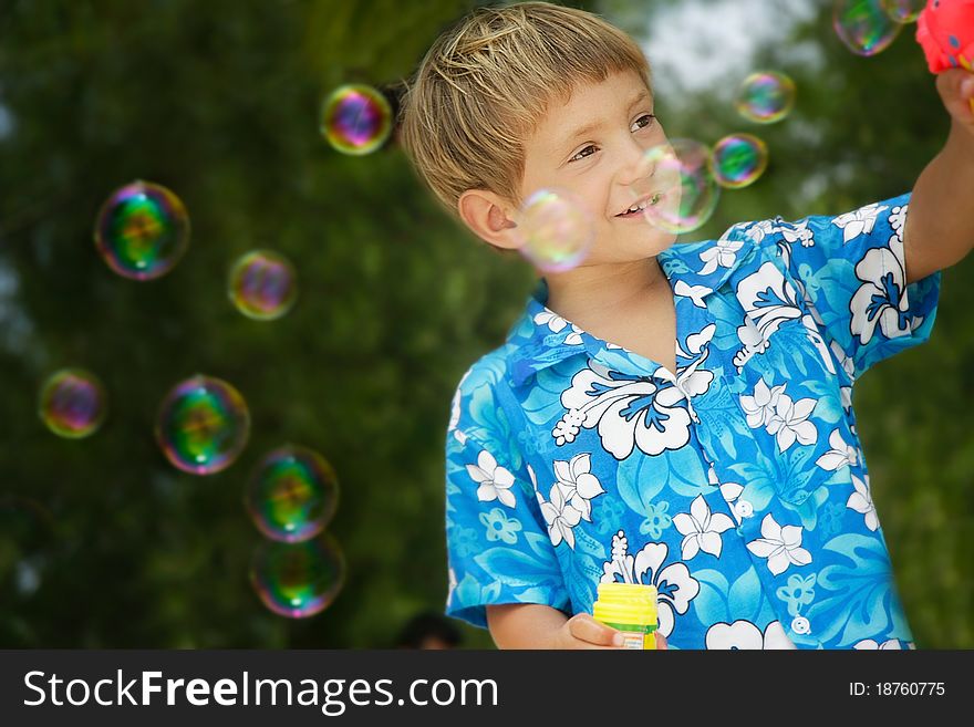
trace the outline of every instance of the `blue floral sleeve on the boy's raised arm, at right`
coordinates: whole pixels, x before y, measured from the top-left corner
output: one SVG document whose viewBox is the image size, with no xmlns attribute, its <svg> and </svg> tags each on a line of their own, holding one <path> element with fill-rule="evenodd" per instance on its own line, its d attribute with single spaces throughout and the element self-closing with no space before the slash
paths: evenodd
<svg viewBox="0 0 974 727">
<path fill-rule="evenodd" d="M 926 341 L 940 271 L 906 285 L 903 230 L 910 195 L 837 217 L 736 226 L 774 241 L 826 342 L 854 381 L 872 364 Z M 732 228 L 734 229 L 734 228 Z"/>
</svg>

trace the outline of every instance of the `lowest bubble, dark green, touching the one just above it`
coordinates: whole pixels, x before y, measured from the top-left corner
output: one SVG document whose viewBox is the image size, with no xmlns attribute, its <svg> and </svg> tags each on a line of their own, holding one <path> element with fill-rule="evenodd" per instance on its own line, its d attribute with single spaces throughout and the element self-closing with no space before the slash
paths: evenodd
<svg viewBox="0 0 974 727">
<path fill-rule="evenodd" d="M 345 560 L 325 533 L 303 542 L 266 540 L 253 553 L 250 582 L 263 604 L 281 616 L 304 619 L 335 600 L 345 580 Z"/>
</svg>

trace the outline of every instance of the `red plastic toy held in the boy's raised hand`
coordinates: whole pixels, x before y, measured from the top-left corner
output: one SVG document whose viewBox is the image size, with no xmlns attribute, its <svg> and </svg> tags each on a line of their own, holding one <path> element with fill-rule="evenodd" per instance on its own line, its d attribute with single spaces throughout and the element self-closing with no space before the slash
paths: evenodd
<svg viewBox="0 0 974 727">
<path fill-rule="evenodd" d="M 974 71 L 974 0 L 930 0 L 916 19 L 916 42 L 931 73 Z"/>
</svg>

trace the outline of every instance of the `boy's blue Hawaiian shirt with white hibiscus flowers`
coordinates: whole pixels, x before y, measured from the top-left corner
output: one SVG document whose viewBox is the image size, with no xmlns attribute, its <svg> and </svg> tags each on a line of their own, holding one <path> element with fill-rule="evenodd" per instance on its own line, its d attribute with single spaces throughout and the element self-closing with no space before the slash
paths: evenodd
<svg viewBox="0 0 974 727">
<path fill-rule="evenodd" d="M 859 376 L 933 328 L 908 202 L 660 253 L 675 372 L 555 314 L 542 280 L 454 397 L 447 613 L 591 613 L 625 581 L 656 586 L 675 648 L 912 647 L 852 411 Z"/>
</svg>

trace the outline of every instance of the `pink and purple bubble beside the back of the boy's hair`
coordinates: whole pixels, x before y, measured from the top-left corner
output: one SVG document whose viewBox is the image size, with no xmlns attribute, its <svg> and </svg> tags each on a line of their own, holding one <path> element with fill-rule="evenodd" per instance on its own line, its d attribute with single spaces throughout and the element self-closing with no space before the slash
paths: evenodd
<svg viewBox="0 0 974 727">
<path fill-rule="evenodd" d="M 392 106 L 372 86 L 340 86 L 322 105 L 321 133 L 342 154 L 374 152 L 385 144 L 392 126 Z"/>
</svg>

